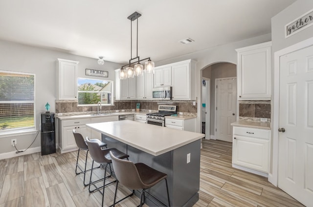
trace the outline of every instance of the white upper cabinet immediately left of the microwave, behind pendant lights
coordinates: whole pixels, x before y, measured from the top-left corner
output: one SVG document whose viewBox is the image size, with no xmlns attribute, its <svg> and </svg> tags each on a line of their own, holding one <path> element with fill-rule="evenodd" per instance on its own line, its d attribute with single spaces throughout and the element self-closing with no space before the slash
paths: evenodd
<svg viewBox="0 0 313 207">
<path fill-rule="evenodd" d="M 138 100 L 152 99 L 153 73 L 144 73 L 136 77 L 136 97 Z"/>
</svg>

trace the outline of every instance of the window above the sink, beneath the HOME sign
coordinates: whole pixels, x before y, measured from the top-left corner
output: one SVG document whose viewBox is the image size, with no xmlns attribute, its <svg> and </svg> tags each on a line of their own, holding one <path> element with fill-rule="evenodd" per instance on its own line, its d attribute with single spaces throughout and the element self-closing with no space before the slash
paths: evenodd
<svg viewBox="0 0 313 207">
<path fill-rule="evenodd" d="M 112 105 L 113 81 L 78 78 L 78 105 Z"/>
</svg>

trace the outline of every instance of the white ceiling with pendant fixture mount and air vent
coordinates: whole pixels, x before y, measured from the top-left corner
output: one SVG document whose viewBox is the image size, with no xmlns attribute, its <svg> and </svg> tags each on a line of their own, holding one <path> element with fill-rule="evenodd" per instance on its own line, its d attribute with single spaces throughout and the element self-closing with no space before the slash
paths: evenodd
<svg viewBox="0 0 313 207">
<path fill-rule="evenodd" d="M 270 33 L 295 0 L 0 0 L 0 39 L 127 63 L 131 21 L 138 55 L 155 62 Z M 133 57 L 135 57 L 133 22 Z M 195 42 L 181 45 L 179 40 Z"/>
</svg>

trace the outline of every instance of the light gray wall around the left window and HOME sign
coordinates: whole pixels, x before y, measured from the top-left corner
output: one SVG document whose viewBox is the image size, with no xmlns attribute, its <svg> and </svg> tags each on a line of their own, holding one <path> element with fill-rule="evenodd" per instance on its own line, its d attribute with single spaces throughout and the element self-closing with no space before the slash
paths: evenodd
<svg viewBox="0 0 313 207">
<path fill-rule="evenodd" d="M 57 58 L 79 61 L 78 77 L 101 79 L 95 76 L 85 75 L 86 68 L 101 69 L 109 71 L 109 77 L 103 79 L 114 80 L 114 69 L 118 69 L 121 66 L 120 64 L 112 62 L 105 62 L 103 66 L 99 66 L 97 59 L 0 41 L 0 70 L 35 73 L 37 130 L 39 130 L 39 114 L 45 112 L 46 102 L 49 102 L 51 106 L 50 111 L 55 112 Z M 11 138 L 17 138 L 17 147 L 19 149 L 25 149 L 31 144 L 32 140 L 35 138 L 35 134 L 0 138 L 0 154 L 14 151 L 14 148 L 11 146 Z M 31 148 L 39 146 L 40 133 Z M 22 155 L 22 153 L 19 155 Z"/>
</svg>

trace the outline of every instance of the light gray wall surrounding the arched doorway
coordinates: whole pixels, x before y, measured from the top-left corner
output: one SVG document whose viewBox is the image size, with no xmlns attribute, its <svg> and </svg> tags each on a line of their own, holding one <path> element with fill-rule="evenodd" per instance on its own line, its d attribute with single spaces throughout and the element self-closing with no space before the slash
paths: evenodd
<svg viewBox="0 0 313 207">
<path fill-rule="evenodd" d="M 219 62 L 228 62 L 237 65 L 237 52 L 235 49 L 245 46 L 251 46 L 259 43 L 268 42 L 271 40 L 271 34 L 261 35 L 258 37 L 250 38 L 247 40 L 230 43 L 223 46 L 217 46 L 214 48 L 206 49 L 203 51 L 179 56 L 176 58 L 164 60 L 161 62 L 157 62 L 156 66 L 161 66 L 164 64 L 175 63 L 182 60 L 194 59 L 197 61 L 197 75 L 196 75 L 196 83 L 197 83 L 197 99 L 201 97 L 201 70 L 210 66 L 214 63 Z M 198 117 L 197 117 L 197 132 L 201 132 L 201 101 L 198 101 Z"/>
</svg>

